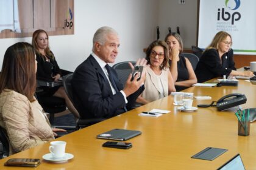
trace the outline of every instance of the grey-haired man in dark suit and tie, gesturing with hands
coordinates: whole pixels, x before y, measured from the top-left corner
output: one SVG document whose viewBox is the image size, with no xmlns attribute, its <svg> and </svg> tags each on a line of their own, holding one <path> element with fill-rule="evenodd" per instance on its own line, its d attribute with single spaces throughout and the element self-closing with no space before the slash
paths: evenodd
<svg viewBox="0 0 256 170">
<path fill-rule="evenodd" d="M 144 90 L 144 73 L 137 81 L 129 76 L 125 86 L 118 81 L 115 70 L 108 66 L 118 55 L 119 37 L 110 27 L 99 28 L 93 37 L 93 52 L 74 72 L 74 106 L 80 118 L 110 118 L 126 112 Z M 130 64 L 132 65 L 132 64 Z M 146 66 L 146 60 L 137 61 Z M 131 66 L 132 67 L 132 66 Z"/>
</svg>

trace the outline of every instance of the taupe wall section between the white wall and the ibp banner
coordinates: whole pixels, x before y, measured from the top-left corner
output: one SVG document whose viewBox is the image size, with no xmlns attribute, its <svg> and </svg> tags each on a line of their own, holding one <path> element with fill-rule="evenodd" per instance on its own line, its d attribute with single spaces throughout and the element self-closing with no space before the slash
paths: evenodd
<svg viewBox="0 0 256 170">
<path fill-rule="evenodd" d="M 186 0 L 184 5 L 180 5 L 178 0 L 159 0 L 158 25 L 160 39 L 165 39 L 168 27 L 176 32 L 179 26 L 184 47 L 196 45 L 197 0 Z"/>
</svg>

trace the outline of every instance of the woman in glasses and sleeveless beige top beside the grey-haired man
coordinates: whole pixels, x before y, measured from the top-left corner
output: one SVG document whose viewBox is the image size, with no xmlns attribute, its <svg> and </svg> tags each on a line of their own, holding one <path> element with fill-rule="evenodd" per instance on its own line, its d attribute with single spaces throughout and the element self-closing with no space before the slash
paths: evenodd
<svg viewBox="0 0 256 170">
<path fill-rule="evenodd" d="M 146 60 L 149 66 L 145 67 L 145 90 L 138 97 L 138 103 L 146 104 L 167 97 L 171 92 L 176 92 L 168 69 L 168 57 L 168 46 L 164 41 L 154 41 L 149 45 L 146 51 Z"/>
</svg>

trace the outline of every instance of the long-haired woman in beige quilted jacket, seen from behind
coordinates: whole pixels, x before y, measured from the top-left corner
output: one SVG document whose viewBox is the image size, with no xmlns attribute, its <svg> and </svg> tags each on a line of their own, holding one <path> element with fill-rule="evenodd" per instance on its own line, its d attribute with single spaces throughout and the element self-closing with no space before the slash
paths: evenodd
<svg viewBox="0 0 256 170">
<path fill-rule="evenodd" d="M 54 139 L 49 120 L 34 97 L 37 72 L 34 48 L 27 42 L 10 46 L 0 75 L 0 126 L 9 138 L 10 154 Z M 54 131 L 54 132 L 53 132 Z"/>
</svg>

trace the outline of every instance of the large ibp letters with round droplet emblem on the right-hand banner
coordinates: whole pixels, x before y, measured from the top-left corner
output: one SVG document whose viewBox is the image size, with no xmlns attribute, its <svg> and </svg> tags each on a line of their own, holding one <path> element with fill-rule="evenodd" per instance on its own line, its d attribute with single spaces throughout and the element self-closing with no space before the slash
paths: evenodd
<svg viewBox="0 0 256 170">
<path fill-rule="evenodd" d="M 226 0 L 225 5 L 230 10 L 236 10 L 240 7 L 240 0 Z M 233 25 L 235 21 L 240 20 L 241 14 L 239 12 L 225 12 L 225 9 L 218 9 L 218 21 L 223 19 L 224 21 L 229 21 L 231 19 L 231 24 Z"/>
</svg>

